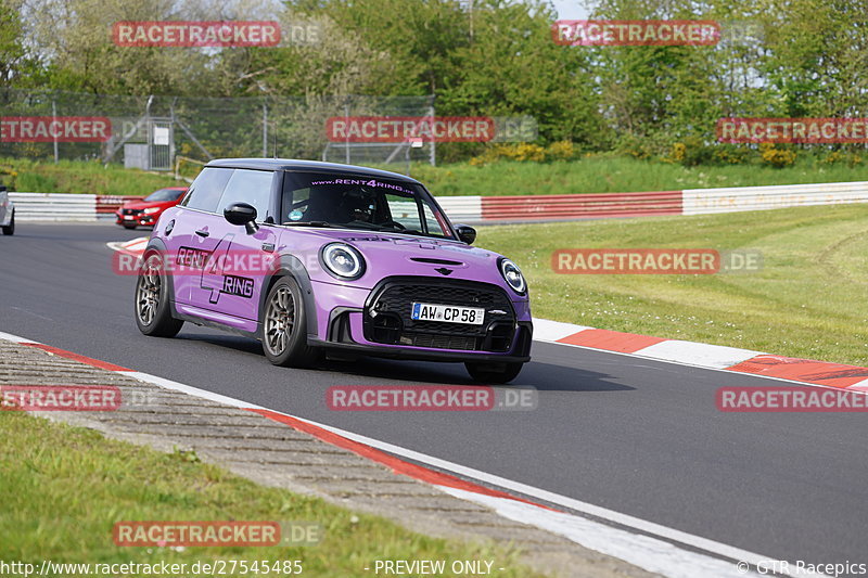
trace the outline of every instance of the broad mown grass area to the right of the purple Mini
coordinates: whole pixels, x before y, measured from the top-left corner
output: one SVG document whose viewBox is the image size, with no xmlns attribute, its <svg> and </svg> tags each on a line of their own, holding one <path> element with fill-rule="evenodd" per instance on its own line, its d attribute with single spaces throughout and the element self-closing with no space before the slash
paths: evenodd
<svg viewBox="0 0 868 578">
<path fill-rule="evenodd" d="M 485 227 L 534 314 L 593 327 L 868 365 L 868 205 Z M 754 273 L 559 274 L 558 248 L 753 248 Z"/>
</svg>

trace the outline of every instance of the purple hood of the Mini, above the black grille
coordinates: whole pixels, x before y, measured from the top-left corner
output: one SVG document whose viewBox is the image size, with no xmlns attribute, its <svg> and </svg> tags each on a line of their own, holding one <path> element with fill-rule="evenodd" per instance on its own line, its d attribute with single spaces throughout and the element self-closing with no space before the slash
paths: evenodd
<svg viewBox="0 0 868 578">
<path fill-rule="evenodd" d="M 336 229 L 296 229 L 304 231 L 307 251 L 317 251 L 332 242 L 353 245 L 363 256 L 365 274 L 347 284 L 373 287 L 386 277 L 414 275 L 460 279 L 493 283 L 506 287 L 497 266 L 499 254 L 473 247 L 459 241 Z M 335 283 L 326 272 L 311 274 L 319 281 Z M 511 295 L 518 298 L 516 295 Z"/>
</svg>

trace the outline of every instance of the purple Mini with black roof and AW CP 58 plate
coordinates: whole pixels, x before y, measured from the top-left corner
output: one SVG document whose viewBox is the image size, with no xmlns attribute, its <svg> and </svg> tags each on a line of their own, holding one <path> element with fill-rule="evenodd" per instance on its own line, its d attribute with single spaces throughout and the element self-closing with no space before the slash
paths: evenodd
<svg viewBox="0 0 868 578">
<path fill-rule="evenodd" d="M 184 321 L 259 339 L 275 364 L 324 354 L 463 362 L 480 382 L 529 360 L 527 284 L 470 246 L 418 181 L 284 159 L 209 163 L 154 227 L 136 322 L 171 337 Z"/>
</svg>

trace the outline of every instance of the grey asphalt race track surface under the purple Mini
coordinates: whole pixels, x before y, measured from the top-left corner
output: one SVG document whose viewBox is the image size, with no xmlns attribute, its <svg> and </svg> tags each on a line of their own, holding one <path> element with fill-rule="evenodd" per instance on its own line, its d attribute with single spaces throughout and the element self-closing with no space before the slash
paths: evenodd
<svg viewBox="0 0 868 578">
<path fill-rule="evenodd" d="M 331 385 L 471 382 L 451 363 L 276 368 L 258 343 L 189 323 L 174 339 L 145 337 L 135 278 L 112 272 L 105 246 L 145 234 L 20 223 L 0 236 L 0 331 L 771 558 L 868 563 L 865 414 L 722 413 L 718 387 L 780 382 L 542 343 L 514 382 L 538 388 L 533 411 L 330 411 Z"/>
</svg>

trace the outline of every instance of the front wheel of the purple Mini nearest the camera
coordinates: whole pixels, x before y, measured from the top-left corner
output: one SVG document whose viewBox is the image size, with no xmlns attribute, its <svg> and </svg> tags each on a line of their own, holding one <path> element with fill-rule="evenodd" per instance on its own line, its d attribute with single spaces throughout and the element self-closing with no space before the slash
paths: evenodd
<svg viewBox="0 0 868 578">
<path fill-rule="evenodd" d="M 281 277 L 268 292 L 259 314 L 268 361 L 283 368 L 309 368 L 319 361 L 316 348 L 307 345 L 307 310 L 295 279 Z"/>
</svg>

